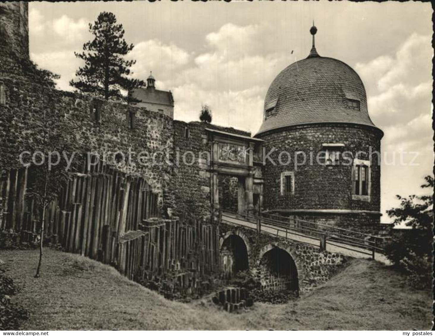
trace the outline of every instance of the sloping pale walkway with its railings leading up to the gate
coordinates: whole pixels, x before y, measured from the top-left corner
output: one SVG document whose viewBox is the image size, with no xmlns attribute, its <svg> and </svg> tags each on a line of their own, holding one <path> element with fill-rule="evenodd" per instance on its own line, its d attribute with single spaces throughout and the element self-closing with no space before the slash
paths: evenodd
<svg viewBox="0 0 435 336">
<path fill-rule="evenodd" d="M 229 225 L 257 230 L 259 233 L 318 246 L 331 253 L 340 253 L 354 258 L 371 257 L 390 264 L 384 255 L 384 250 L 380 247 L 382 237 L 276 215 L 271 218 L 271 216 L 239 215 L 230 211 L 221 211 L 219 220 Z"/>
</svg>

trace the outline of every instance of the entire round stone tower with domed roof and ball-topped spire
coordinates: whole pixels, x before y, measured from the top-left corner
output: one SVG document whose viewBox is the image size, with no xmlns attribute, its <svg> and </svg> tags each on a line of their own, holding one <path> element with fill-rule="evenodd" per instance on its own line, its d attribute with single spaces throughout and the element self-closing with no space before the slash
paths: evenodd
<svg viewBox="0 0 435 336">
<path fill-rule="evenodd" d="M 361 229 L 380 222 L 383 132 L 347 64 L 321 57 L 289 65 L 271 83 L 256 137 L 265 140 L 264 211 Z"/>
</svg>

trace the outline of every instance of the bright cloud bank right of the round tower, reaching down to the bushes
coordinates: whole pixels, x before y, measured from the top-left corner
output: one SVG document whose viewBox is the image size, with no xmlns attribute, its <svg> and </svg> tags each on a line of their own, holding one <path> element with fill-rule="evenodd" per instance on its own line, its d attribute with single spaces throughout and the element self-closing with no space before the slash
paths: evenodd
<svg viewBox="0 0 435 336">
<path fill-rule="evenodd" d="M 385 133 L 382 212 L 398 205 L 395 194 L 420 192 L 423 176 L 432 170 L 432 54 L 431 38 L 413 33 L 394 55 L 381 55 L 355 67 L 365 83 L 373 121 Z M 400 162 L 401 155 L 405 164 Z"/>
</svg>

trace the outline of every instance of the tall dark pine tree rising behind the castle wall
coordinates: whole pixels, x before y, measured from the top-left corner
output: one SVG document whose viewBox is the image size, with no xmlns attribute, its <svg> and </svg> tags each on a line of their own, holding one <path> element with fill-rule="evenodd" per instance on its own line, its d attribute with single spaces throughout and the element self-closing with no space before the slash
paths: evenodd
<svg viewBox="0 0 435 336">
<path fill-rule="evenodd" d="M 76 89 L 92 93 L 104 99 L 126 99 L 121 90 L 129 91 L 144 85 L 142 80 L 131 79 L 130 68 L 135 60 L 124 60 L 133 48 L 124 40 L 124 28 L 117 24 L 113 13 L 102 12 L 94 24 L 89 23 L 89 31 L 95 38 L 83 45 L 82 53 L 74 53 L 84 60 L 84 67 L 76 71 L 78 79 L 70 85 Z"/>
</svg>

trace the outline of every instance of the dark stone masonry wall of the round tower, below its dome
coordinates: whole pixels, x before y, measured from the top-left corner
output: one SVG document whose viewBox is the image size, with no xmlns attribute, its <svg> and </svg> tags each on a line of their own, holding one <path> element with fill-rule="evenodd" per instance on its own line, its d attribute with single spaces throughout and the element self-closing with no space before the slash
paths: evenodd
<svg viewBox="0 0 435 336">
<path fill-rule="evenodd" d="M 352 166 L 318 164 L 316 155 L 324 150 L 322 143 L 343 143 L 341 152 L 355 154 L 365 151 L 358 158 L 368 160 L 369 146 L 372 151 L 380 151 L 381 133 L 373 128 L 357 125 L 305 125 L 293 126 L 284 130 L 264 133 L 261 139 L 266 140 L 265 153 L 272 148 L 276 150 L 269 157 L 277 163 L 266 160 L 264 168 L 264 209 L 303 209 L 303 210 L 380 210 L 380 178 L 381 170 L 376 156 L 371 166 L 370 201 L 352 200 Z M 281 151 L 291 154 L 291 162 L 282 166 L 278 162 Z M 302 151 L 307 155 L 305 165 L 294 167 L 294 153 Z M 310 163 L 310 152 L 313 153 L 313 164 Z M 284 154 L 281 160 L 286 162 Z M 299 156 L 301 162 L 302 156 Z M 294 193 L 281 195 L 281 173 L 294 171 Z M 321 216 L 317 216 L 321 218 Z M 379 221 L 379 216 L 368 216 L 368 222 Z"/>
</svg>

